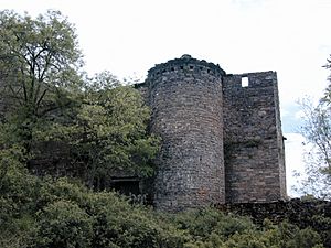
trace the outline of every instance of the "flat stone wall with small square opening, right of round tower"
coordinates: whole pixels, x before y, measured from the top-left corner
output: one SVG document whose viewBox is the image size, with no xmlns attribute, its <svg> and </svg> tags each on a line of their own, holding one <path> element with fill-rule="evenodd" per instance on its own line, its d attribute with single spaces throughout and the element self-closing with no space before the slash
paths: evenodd
<svg viewBox="0 0 331 248">
<path fill-rule="evenodd" d="M 223 97 L 226 202 L 285 198 L 276 73 L 226 75 Z"/>
</svg>

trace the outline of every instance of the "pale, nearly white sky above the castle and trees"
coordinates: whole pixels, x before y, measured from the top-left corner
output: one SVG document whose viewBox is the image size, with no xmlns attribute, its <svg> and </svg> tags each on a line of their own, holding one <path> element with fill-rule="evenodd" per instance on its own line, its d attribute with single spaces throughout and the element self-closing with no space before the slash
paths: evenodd
<svg viewBox="0 0 331 248">
<path fill-rule="evenodd" d="M 0 0 L 0 9 L 60 10 L 76 25 L 90 75 L 107 69 L 120 79 L 143 78 L 182 54 L 231 74 L 276 71 L 288 188 L 295 183 L 303 141 L 297 101 L 327 87 L 331 0 Z"/>
</svg>

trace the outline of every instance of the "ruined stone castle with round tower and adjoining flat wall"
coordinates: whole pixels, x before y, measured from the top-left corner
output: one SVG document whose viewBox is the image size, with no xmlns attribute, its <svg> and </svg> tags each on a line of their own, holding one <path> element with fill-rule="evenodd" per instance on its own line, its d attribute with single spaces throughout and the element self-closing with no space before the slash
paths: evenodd
<svg viewBox="0 0 331 248">
<path fill-rule="evenodd" d="M 226 74 L 183 55 L 156 65 L 137 87 L 162 138 L 158 209 L 286 197 L 275 72 Z"/>
</svg>

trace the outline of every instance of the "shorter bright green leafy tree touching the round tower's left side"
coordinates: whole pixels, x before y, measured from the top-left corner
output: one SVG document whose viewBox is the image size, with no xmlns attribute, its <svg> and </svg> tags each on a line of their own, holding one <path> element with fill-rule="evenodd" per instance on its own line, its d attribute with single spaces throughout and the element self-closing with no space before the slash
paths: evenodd
<svg viewBox="0 0 331 248">
<path fill-rule="evenodd" d="M 149 108 L 138 90 L 118 86 L 109 73 L 86 85 L 70 142 L 86 162 L 88 185 L 103 187 L 114 172 L 141 177 L 153 174 L 152 159 L 159 140 L 147 133 Z"/>
</svg>

